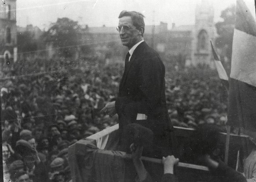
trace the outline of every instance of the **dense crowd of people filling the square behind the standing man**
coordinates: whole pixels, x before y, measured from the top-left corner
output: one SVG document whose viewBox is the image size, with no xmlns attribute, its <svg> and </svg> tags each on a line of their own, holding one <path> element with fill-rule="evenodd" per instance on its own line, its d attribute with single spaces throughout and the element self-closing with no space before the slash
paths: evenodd
<svg viewBox="0 0 256 182">
<path fill-rule="evenodd" d="M 165 63 L 166 99 L 174 126 L 208 123 L 225 130 L 227 91 L 216 70 Z M 66 182 L 67 148 L 118 123 L 99 111 L 113 101 L 123 63 L 97 58 L 21 60 L 1 68 L 4 179 Z"/>
</svg>

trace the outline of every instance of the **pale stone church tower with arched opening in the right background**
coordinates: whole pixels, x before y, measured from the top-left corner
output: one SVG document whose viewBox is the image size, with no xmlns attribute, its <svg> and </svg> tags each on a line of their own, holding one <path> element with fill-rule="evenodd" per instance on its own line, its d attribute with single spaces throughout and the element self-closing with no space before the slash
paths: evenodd
<svg viewBox="0 0 256 182">
<path fill-rule="evenodd" d="M 194 43 L 193 43 L 193 63 L 212 65 L 212 49 L 210 40 L 215 37 L 215 25 L 213 22 L 214 9 L 212 2 L 201 0 L 197 4 L 195 15 Z"/>
</svg>

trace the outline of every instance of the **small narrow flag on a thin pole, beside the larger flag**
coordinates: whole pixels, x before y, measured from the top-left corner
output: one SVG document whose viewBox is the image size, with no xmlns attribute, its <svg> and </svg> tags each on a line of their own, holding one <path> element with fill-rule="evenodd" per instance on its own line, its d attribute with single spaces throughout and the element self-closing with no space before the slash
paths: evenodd
<svg viewBox="0 0 256 182">
<path fill-rule="evenodd" d="M 216 66 L 216 69 L 218 71 L 218 74 L 219 74 L 219 79 L 222 81 L 223 85 L 228 89 L 228 77 L 227 77 L 227 72 L 226 70 L 224 69 L 221 61 L 219 60 L 219 57 L 212 45 L 212 40 L 210 41 L 211 42 L 211 46 L 212 46 L 212 54 L 213 54 L 213 57 L 214 57 L 214 63 L 215 63 L 215 66 Z"/>
</svg>

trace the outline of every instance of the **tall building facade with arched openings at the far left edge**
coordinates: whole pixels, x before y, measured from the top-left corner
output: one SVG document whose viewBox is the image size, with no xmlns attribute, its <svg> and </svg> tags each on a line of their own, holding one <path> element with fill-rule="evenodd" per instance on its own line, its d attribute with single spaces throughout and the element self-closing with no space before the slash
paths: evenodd
<svg viewBox="0 0 256 182">
<path fill-rule="evenodd" d="M 0 1 L 0 62 L 17 60 L 16 0 Z"/>
</svg>

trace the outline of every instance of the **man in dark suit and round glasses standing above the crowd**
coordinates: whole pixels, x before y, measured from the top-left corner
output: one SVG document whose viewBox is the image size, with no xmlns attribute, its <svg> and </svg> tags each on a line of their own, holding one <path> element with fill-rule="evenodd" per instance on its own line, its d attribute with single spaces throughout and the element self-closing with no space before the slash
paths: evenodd
<svg viewBox="0 0 256 182">
<path fill-rule="evenodd" d="M 165 66 L 160 56 L 143 40 L 145 23 L 143 14 L 122 11 L 119 15 L 121 42 L 128 47 L 119 95 L 101 112 L 110 117 L 118 114 L 120 143 L 122 131 L 129 123 L 141 124 L 154 132 L 154 156 L 172 154 L 176 147 L 173 126 L 168 117 L 165 101 Z"/>
</svg>

